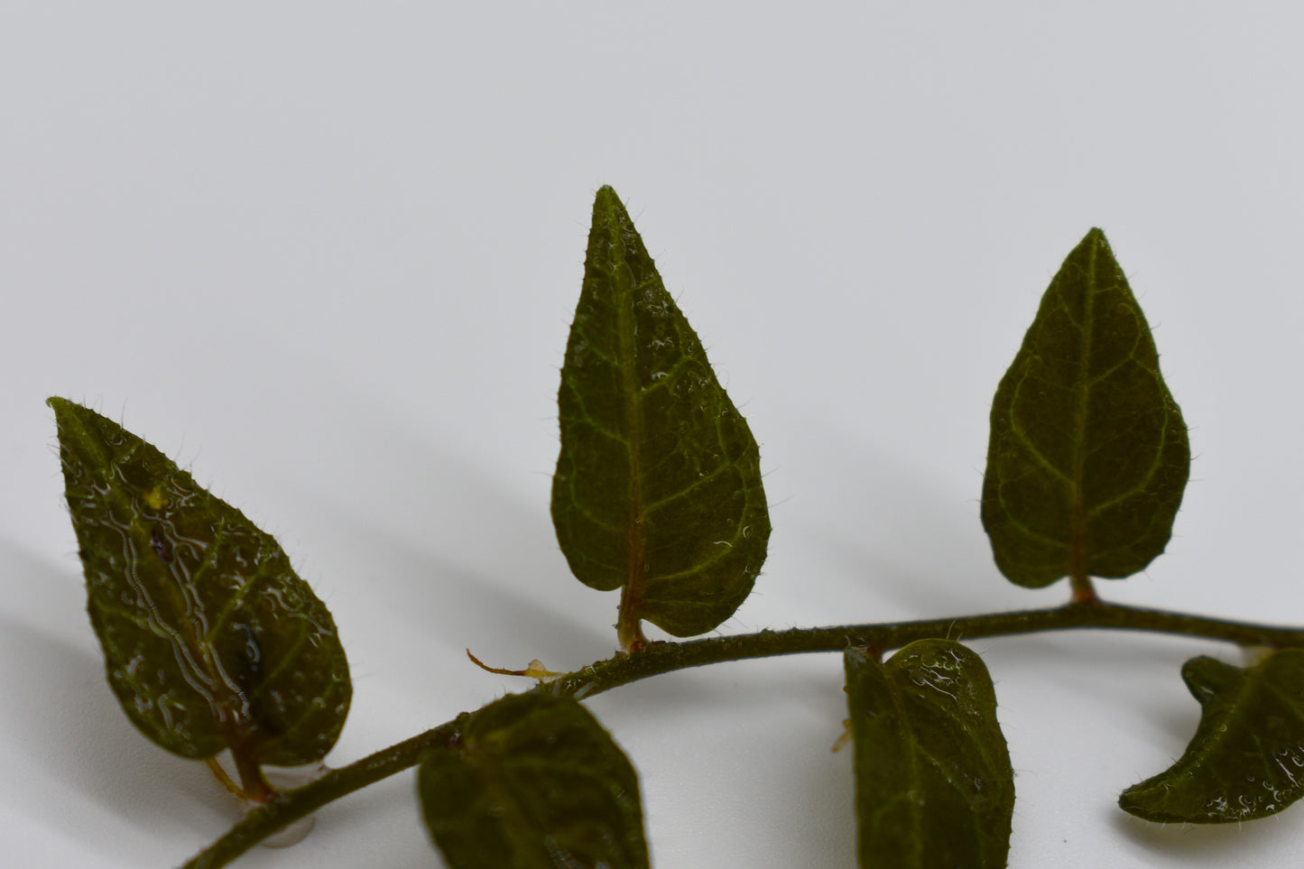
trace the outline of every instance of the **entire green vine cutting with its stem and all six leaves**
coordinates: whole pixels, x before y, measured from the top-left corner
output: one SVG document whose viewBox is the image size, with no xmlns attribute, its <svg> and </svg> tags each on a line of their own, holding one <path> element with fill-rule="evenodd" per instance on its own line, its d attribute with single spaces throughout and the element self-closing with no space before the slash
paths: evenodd
<svg viewBox="0 0 1304 869">
<path fill-rule="evenodd" d="M 686 667 L 838 652 L 859 864 L 988 868 L 1009 859 L 1015 778 L 992 677 L 955 637 L 1094 626 L 1262 647 L 1248 668 L 1185 664 L 1194 737 L 1144 782 L 1125 787 L 1131 771 L 1120 770 L 1119 805 L 1162 823 L 1221 823 L 1304 795 L 1304 630 L 1097 594 L 1094 579 L 1128 577 L 1163 552 L 1181 504 L 1191 448 L 1158 359 L 1091 230 L 996 388 L 982 492 L 1001 573 L 1029 587 L 1068 578 L 1063 605 L 653 642 L 644 621 L 690 638 L 737 611 L 771 523 L 756 437 L 604 187 L 561 372 L 552 517 L 576 579 L 619 591 L 618 651 L 574 672 L 537 660 L 497 671 L 536 681 L 284 792 L 263 766 L 319 763 L 348 712 L 331 615 L 271 536 L 141 437 L 70 401 L 50 404 L 91 625 L 123 711 L 162 748 L 209 762 L 252 806 L 188 866 L 226 865 L 325 802 L 416 766 L 421 816 L 449 866 L 645 868 L 635 766 L 582 701 Z"/>
</svg>

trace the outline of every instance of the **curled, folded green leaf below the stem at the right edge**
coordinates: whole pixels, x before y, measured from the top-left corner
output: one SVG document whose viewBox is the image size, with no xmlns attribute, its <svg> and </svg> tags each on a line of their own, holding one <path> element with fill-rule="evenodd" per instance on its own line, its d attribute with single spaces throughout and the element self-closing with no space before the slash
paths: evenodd
<svg viewBox="0 0 1304 869">
<path fill-rule="evenodd" d="M 1181 668 L 1200 727 L 1171 767 L 1119 805 L 1146 821 L 1230 823 L 1275 814 L 1304 796 L 1304 650 L 1241 669 L 1213 658 Z"/>
</svg>

